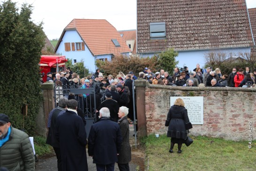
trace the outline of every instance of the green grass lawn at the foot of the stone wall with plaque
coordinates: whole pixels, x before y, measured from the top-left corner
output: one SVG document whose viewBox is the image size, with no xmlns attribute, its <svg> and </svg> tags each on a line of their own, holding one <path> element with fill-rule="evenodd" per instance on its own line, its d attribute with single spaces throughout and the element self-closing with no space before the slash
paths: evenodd
<svg viewBox="0 0 256 171">
<path fill-rule="evenodd" d="M 248 149 L 248 141 L 226 141 L 218 138 L 193 137 L 187 147 L 178 144 L 169 153 L 170 138 L 150 135 L 142 140 L 148 171 L 256 171 L 256 142 Z"/>
</svg>

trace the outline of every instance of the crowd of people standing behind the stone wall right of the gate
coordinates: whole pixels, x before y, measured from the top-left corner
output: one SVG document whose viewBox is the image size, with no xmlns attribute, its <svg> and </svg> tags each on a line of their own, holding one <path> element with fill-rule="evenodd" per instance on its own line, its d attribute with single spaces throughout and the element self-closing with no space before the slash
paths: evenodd
<svg viewBox="0 0 256 171">
<path fill-rule="evenodd" d="M 169 74 L 161 69 L 159 72 L 152 73 L 150 69 L 145 68 L 139 73 L 139 78 L 146 79 L 151 84 L 171 85 L 171 86 L 187 86 L 187 87 L 255 87 L 256 69 L 250 72 L 249 67 L 245 70 L 242 68 L 233 68 L 232 73 L 221 74 L 219 68 L 213 70 L 211 67 L 206 68 L 206 72 L 197 64 L 192 72 L 188 67 L 180 70 L 174 68 L 173 74 Z"/>
</svg>

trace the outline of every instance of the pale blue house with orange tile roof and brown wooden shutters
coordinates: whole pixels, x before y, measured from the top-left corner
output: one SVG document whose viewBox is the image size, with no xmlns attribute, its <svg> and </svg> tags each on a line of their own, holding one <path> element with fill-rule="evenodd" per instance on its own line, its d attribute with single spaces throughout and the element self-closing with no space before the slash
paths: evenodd
<svg viewBox="0 0 256 171">
<path fill-rule="evenodd" d="M 73 19 L 63 30 L 55 52 L 73 62 L 83 59 L 84 66 L 95 72 L 96 60 L 111 60 L 132 52 L 120 33 L 106 20 Z"/>
</svg>

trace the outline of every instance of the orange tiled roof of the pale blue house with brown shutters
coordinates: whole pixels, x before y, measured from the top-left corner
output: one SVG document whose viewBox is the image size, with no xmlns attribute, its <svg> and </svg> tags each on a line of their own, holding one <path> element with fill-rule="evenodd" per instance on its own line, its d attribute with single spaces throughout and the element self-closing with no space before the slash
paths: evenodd
<svg viewBox="0 0 256 171">
<path fill-rule="evenodd" d="M 106 20 L 73 19 L 64 30 L 77 30 L 94 56 L 131 52 L 119 32 Z M 115 46 L 116 39 L 120 46 Z"/>
</svg>

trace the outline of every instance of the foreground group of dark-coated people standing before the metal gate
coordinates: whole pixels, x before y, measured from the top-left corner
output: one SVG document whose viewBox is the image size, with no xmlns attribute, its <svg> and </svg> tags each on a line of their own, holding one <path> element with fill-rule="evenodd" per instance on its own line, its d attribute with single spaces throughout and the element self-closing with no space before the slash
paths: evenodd
<svg viewBox="0 0 256 171">
<path fill-rule="evenodd" d="M 112 101 L 109 97 L 111 94 L 107 93 L 106 100 Z M 103 104 L 99 119 L 90 127 L 87 141 L 86 121 L 79 114 L 78 102 L 74 98 L 73 94 L 68 99 L 60 98 L 58 107 L 49 113 L 46 143 L 54 149 L 58 171 L 88 171 L 87 144 L 88 155 L 93 158 L 97 171 L 114 171 L 115 163 L 120 171 L 129 171 L 129 109 L 125 106 L 116 109 L 116 101 L 110 102 L 108 107 L 103 107 Z M 111 118 L 115 110 L 117 120 Z"/>
</svg>

